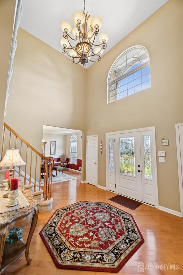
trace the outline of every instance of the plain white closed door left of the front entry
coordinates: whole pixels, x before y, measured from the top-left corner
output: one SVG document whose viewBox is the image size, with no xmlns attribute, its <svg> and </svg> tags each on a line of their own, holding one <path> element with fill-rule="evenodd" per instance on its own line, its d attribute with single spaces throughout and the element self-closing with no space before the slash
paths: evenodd
<svg viewBox="0 0 183 275">
<path fill-rule="evenodd" d="M 98 185 L 98 136 L 87 136 L 86 181 Z"/>
</svg>

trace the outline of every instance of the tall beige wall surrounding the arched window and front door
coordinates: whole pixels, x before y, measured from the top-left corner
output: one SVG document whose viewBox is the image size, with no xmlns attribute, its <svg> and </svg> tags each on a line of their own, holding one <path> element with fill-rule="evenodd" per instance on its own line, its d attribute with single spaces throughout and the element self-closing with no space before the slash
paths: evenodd
<svg viewBox="0 0 183 275">
<path fill-rule="evenodd" d="M 183 122 L 182 1 L 169 0 L 87 70 L 87 135 L 155 126 L 159 205 L 180 211 L 175 124 Z M 107 77 L 114 60 L 127 48 L 142 45 L 150 55 L 151 88 L 107 104 Z M 95 79 L 95 81 L 94 81 Z M 166 136 L 169 146 L 162 147 Z M 105 186 L 105 149 L 98 152 L 98 184 Z M 158 154 L 157 154 L 158 155 Z"/>
</svg>

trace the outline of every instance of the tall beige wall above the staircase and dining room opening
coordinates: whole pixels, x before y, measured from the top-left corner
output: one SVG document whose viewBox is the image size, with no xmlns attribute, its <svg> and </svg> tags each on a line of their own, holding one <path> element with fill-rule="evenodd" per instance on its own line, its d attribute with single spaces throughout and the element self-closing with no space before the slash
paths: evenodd
<svg viewBox="0 0 183 275">
<path fill-rule="evenodd" d="M 85 130 L 86 70 L 21 28 L 17 41 L 5 122 L 41 152 L 43 125 Z"/>
</svg>

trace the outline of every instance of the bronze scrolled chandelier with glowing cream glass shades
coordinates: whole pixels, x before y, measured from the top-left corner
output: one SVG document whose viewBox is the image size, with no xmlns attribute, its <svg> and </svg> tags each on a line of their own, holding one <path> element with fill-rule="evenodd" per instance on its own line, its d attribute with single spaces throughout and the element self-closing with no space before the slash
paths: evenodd
<svg viewBox="0 0 183 275">
<path fill-rule="evenodd" d="M 90 17 L 88 12 L 85 14 L 84 0 L 83 12 L 75 12 L 72 20 L 75 24 L 74 28 L 68 21 L 62 21 L 60 24 L 60 28 L 63 31 L 63 38 L 60 39 L 63 54 L 66 53 L 70 56 L 72 63 L 77 64 L 80 62 L 83 66 L 86 66 L 88 61 L 101 61 L 100 55 L 103 54 L 104 49 L 107 47 L 106 42 L 109 39 L 108 34 L 102 33 L 99 36 L 101 44 L 94 44 L 102 26 L 102 19 L 100 17 Z M 73 37 L 69 35 L 70 32 Z"/>
</svg>

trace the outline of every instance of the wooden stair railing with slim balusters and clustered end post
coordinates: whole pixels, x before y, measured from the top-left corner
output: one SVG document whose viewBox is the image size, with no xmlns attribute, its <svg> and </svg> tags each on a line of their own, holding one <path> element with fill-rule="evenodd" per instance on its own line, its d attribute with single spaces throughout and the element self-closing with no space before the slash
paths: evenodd
<svg viewBox="0 0 183 275">
<path fill-rule="evenodd" d="M 43 156 L 31 144 L 24 140 L 18 133 L 4 122 L 3 139 L 1 146 L 1 159 L 7 148 L 19 149 L 20 156 L 24 158 L 25 166 L 19 166 L 18 176 L 23 177 L 23 184 L 34 187 L 34 192 L 43 188 L 44 201 L 51 199 L 51 181 L 53 157 Z M 39 164 L 40 163 L 40 164 Z M 41 167 L 44 163 L 44 185 L 41 185 Z M 38 167 L 40 169 L 37 169 Z M 15 168 L 15 167 L 13 167 Z M 0 168 L 2 169 L 2 168 Z M 29 170 L 29 172 L 27 172 Z M 49 173 L 51 171 L 51 173 Z"/>
</svg>

